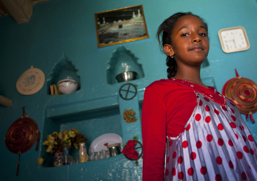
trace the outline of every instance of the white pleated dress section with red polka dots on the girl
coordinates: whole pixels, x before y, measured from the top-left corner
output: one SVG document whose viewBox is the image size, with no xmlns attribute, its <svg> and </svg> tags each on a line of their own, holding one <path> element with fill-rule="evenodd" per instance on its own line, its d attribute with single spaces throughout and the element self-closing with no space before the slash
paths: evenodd
<svg viewBox="0 0 257 181">
<path fill-rule="evenodd" d="M 164 179 L 256 180 L 256 144 L 235 104 L 195 93 L 197 106 L 185 129 L 167 137 Z"/>
</svg>

